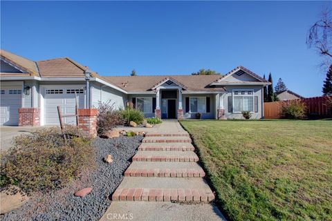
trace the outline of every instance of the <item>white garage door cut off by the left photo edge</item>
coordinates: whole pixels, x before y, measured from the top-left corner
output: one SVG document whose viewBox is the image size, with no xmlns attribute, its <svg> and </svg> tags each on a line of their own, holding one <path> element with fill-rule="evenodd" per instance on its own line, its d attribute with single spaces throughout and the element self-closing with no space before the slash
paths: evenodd
<svg viewBox="0 0 332 221">
<path fill-rule="evenodd" d="M 0 125 L 18 125 L 22 90 L 18 88 L 1 89 Z"/>
</svg>

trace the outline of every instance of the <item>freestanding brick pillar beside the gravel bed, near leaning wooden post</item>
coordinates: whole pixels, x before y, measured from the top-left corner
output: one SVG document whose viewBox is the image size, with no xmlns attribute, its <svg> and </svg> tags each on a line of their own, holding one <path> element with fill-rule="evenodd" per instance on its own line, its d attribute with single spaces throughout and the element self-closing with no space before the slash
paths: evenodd
<svg viewBox="0 0 332 221">
<path fill-rule="evenodd" d="M 78 128 L 82 129 L 86 135 L 97 136 L 97 114 L 98 109 L 78 109 Z"/>
</svg>

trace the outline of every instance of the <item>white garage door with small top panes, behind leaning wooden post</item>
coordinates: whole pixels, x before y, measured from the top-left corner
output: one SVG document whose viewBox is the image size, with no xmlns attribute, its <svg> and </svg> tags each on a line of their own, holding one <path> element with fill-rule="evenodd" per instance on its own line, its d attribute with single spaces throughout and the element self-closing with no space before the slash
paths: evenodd
<svg viewBox="0 0 332 221">
<path fill-rule="evenodd" d="M 57 106 L 62 114 L 75 114 L 75 93 L 78 108 L 84 108 L 85 91 L 83 88 L 46 88 L 44 92 L 45 125 L 59 125 Z M 75 117 L 65 117 L 65 124 L 76 124 Z"/>
</svg>

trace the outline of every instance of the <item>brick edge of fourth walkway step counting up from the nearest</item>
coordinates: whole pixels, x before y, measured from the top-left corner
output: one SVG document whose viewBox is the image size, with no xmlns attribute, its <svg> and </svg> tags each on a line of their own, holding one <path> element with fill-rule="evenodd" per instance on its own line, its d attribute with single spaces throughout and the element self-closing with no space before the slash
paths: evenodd
<svg viewBox="0 0 332 221">
<path fill-rule="evenodd" d="M 172 143 L 172 144 L 140 144 L 138 151 L 194 151 L 195 148 L 190 143 Z"/>
</svg>

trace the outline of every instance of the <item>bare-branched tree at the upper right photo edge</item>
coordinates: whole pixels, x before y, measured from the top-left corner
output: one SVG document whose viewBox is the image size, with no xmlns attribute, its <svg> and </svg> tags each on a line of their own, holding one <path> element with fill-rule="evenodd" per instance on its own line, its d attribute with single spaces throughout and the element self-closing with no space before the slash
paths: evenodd
<svg viewBox="0 0 332 221">
<path fill-rule="evenodd" d="M 324 57 L 321 66 L 329 67 L 332 60 L 332 11 L 325 8 L 319 21 L 311 26 L 306 37 L 306 44 L 313 47 L 318 54 Z"/>
</svg>

